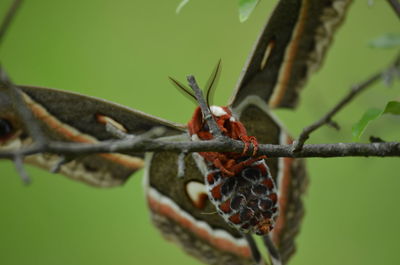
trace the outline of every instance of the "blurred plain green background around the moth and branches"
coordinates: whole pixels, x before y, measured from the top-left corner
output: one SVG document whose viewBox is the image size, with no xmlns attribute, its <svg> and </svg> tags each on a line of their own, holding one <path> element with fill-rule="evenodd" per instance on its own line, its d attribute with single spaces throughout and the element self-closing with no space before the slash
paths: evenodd
<svg viewBox="0 0 400 265">
<path fill-rule="evenodd" d="M 4 15 L 10 0 L 0 1 Z M 179 15 L 174 1 L 25 1 L 0 49 L 12 79 L 76 91 L 185 123 L 194 106 L 167 80 L 195 74 L 204 83 L 219 58 L 216 104 L 225 104 L 277 1 L 263 0 L 238 21 L 237 1 L 191 1 Z M 354 1 L 323 69 L 313 75 L 299 108 L 277 112 L 288 130 L 319 118 L 350 87 L 387 65 L 396 50 L 368 42 L 399 32 L 386 1 Z M 350 142 L 351 126 L 369 107 L 399 98 L 399 83 L 378 84 L 322 128 L 310 143 Z M 384 117 L 366 131 L 400 140 L 400 119 Z M 400 160 L 309 159 L 306 215 L 290 264 L 399 264 Z M 0 161 L 0 264 L 199 264 L 164 241 L 149 222 L 142 171 L 125 186 L 101 190 L 28 167 L 22 185 Z"/>
</svg>

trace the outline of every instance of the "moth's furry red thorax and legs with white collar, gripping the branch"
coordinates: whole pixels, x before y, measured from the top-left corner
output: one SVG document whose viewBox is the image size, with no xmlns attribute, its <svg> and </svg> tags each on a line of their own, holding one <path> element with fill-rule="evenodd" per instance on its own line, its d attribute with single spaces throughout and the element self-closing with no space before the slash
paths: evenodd
<svg viewBox="0 0 400 265">
<path fill-rule="evenodd" d="M 216 168 L 220 169 L 224 175 L 233 176 L 239 173 L 244 167 L 251 165 L 257 160 L 266 158 L 265 156 L 256 156 L 258 142 L 254 136 L 248 136 L 244 125 L 232 116 L 228 107 L 211 106 L 212 115 L 221 130 L 221 132 L 234 140 L 240 140 L 245 143 L 245 148 L 241 154 L 238 153 L 218 153 L 218 152 L 200 152 L 207 161 L 211 162 Z M 188 123 L 189 133 L 192 139 L 210 140 L 213 135 L 210 133 L 207 124 L 203 119 L 200 107 L 194 111 L 192 119 Z M 238 162 L 238 159 L 248 157 L 246 153 L 250 144 L 253 144 L 252 159 Z"/>
</svg>

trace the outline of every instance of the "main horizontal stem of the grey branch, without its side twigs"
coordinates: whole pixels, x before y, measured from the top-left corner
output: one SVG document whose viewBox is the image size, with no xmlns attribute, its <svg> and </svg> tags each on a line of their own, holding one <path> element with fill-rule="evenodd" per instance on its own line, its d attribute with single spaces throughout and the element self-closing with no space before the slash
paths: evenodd
<svg viewBox="0 0 400 265">
<path fill-rule="evenodd" d="M 134 139 L 104 141 L 96 144 L 48 142 L 42 147 L 28 147 L 15 151 L 2 151 L 0 158 L 14 159 L 17 155 L 27 156 L 37 153 L 57 153 L 62 155 L 113 153 L 113 152 L 242 152 L 244 143 L 232 139 L 219 141 L 166 142 L 157 139 Z M 259 155 L 268 157 L 400 157 L 400 142 L 383 143 L 336 143 L 306 144 L 301 151 L 295 152 L 292 145 L 260 144 Z"/>
</svg>

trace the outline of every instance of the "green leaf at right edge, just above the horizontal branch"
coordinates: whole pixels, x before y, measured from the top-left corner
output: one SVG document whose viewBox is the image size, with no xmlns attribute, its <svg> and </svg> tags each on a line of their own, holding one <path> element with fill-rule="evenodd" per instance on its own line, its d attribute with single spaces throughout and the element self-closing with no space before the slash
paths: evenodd
<svg viewBox="0 0 400 265">
<path fill-rule="evenodd" d="M 367 128 L 368 124 L 382 116 L 383 114 L 394 114 L 394 115 L 400 115 L 400 102 L 399 101 L 389 101 L 386 104 L 386 107 L 384 110 L 380 109 L 369 109 L 367 110 L 364 115 L 361 117 L 361 119 L 354 124 L 353 126 L 353 139 L 358 140 L 360 139 L 360 136 L 363 134 L 365 131 L 365 128 Z"/>
</svg>

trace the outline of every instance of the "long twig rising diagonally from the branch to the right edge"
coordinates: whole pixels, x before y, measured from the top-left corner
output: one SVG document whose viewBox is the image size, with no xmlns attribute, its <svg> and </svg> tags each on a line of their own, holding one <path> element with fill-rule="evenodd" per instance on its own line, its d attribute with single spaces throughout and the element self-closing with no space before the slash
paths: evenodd
<svg viewBox="0 0 400 265">
<path fill-rule="evenodd" d="M 299 139 L 297 141 L 294 141 L 293 143 L 294 151 L 299 152 L 313 131 L 317 130 L 325 124 L 332 123 L 332 117 L 336 113 L 338 113 L 344 106 L 351 102 L 355 96 L 359 95 L 366 88 L 370 87 L 372 84 L 378 81 L 385 72 L 393 69 L 394 67 L 398 67 L 399 62 L 400 56 L 396 58 L 395 62 L 391 64 L 389 68 L 386 68 L 384 71 L 376 73 L 373 76 L 369 77 L 367 80 L 361 82 L 360 84 L 353 86 L 350 89 L 350 92 L 342 100 L 340 100 L 330 111 L 328 111 L 328 113 L 326 113 L 321 119 L 303 129 L 299 136 Z"/>
</svg>

